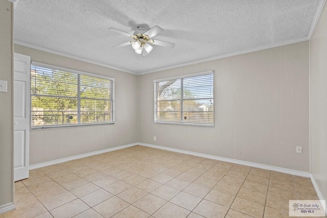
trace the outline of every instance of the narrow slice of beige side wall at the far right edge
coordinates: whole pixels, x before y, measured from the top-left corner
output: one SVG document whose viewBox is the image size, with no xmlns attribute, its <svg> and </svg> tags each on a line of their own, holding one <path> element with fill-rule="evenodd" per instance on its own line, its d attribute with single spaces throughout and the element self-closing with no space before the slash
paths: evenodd
<svg viewBox="0 0 327 218">
<path fill-rule="evenodd" d="M 311 38 L 311 170 L 327 200 L 327 6 Z"/>
</svg>

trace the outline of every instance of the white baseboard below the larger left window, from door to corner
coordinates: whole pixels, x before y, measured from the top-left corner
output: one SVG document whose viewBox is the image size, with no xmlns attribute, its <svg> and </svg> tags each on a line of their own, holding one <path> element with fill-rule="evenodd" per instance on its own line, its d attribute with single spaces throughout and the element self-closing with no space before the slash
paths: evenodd
<svg viewBox="0 0 327 218">
<path fill-rule="evenodd" d="M 93 156 L 93 155 L 100 155 L 100 154 L 103 154 L 105 152 L 119 150 L 119 149 L 123 149 L 123 148 L 127 148 L 127 147 L 132 147 L 132 146 L 135 146 L 135 145 L 138 145 L 138 143 L 121 145 L 121 146 L 117 146 L 117 147 L 107 148 L 107 149 L 104 149 L 104 150 L 92 151 L 92 152 L 82 154 L 82 155 L 76 155 L 76 156 L 72 156 L 72 157 L 68 157 L 68 158 L 62 158 L 62 159 L 43 162 L 43 163 L 39 163 L 39 164 L 33 164 L 33 165 L 30 165 L 29 169 L 32 170 L 32 169 L 37 169 L 37 168 L 41 168 L 41 167 L 45 167 L 45 166 L 59 164 L 59 163 L 67 162 L 67 161 L 86 158 L 86 157 Z"/>
</svg>

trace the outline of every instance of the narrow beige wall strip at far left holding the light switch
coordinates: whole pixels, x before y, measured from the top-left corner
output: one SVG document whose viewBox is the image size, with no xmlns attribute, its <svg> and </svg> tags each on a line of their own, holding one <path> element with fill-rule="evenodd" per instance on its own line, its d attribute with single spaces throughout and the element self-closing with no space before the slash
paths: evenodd
<svg viewBox="0 0 327 218">
<path fill-rule="evenodd" d="M 12 7 L 7 0 L 0 0 L 0 80 L 8 81 L 8 92 L 0 92 L 0 208 L 13 202 Z"/>
</svg>

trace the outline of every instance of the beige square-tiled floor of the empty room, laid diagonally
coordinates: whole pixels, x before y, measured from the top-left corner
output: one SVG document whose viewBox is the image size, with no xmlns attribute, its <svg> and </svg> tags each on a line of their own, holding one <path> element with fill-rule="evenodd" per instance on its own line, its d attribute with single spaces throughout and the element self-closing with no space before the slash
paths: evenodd
<svg viewBox="0 0 327 218">
<path fill-rule="evenodd" d="M 30 171 L 7 217 L 288 217 L 309 178 L 133 146 Z"/>
</svg>

